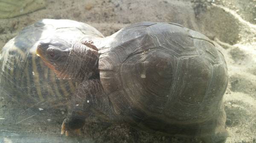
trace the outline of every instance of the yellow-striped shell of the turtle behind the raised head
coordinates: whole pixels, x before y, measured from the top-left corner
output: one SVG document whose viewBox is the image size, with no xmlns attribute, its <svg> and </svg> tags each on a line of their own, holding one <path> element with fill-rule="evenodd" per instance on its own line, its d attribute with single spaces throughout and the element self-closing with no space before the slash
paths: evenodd
<svg viewBox="0 0 256 143">
<path fill-rule="evenodd" d="M 3 93 L 20 104 L 31 106 L 66 98 L 75 90 L 75 82 L 58 79 L 36 56 L 38 42 L 64 39 L 79 42 L 84 38 L 103 37 L 90 25 L 73 20 L 43 19 L 23 28 L 0 53 L 0 82 Z"/>
</svg>

